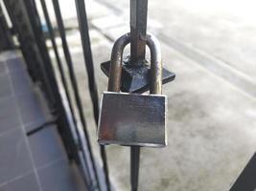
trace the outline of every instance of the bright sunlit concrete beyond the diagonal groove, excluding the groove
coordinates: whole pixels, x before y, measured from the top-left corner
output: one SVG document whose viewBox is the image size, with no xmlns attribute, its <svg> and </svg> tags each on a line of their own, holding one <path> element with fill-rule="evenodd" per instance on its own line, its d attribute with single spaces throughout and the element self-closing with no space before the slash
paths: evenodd
<svg viewBox="0 0 256 191">
<path fill-rule="evenodd" d="M 97 0 L 128 15 L 129 1 Z M 256 24 L 252 0 L 149 1 L 149 18 L 161 23 L 159 35 L 176 38 L 209 53 L 255 80 Z M 128 16 L 127 16 L 128 18 Z M 149 21 L 151 24 L 151 20 Z M 170 45 L 172 46 L 172 44 Z"/>
</svg>

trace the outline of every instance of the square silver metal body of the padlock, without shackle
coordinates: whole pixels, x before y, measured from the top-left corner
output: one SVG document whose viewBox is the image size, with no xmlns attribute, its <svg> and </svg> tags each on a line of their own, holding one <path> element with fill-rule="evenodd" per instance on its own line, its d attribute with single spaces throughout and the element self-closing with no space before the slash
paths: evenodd
<svg viewBox="0 0 256 191">
<path fill-rule="evenodd" d="M 167 96 L 105 92 L 98 127 L 100 144 L 167 145 Z"/>
</svg>

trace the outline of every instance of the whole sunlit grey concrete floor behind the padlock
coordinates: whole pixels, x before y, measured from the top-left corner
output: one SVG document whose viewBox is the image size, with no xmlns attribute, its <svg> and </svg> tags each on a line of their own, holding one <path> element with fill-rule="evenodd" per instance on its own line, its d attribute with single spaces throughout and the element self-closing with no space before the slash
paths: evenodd
<svg viewBox="0 0 256 191">
<path fill-rule="evenodd" d="M 165 1 L 164 6 L 149 1 L 149 31 L 161 40 L 164 63 L 176 79 L 163 91 L 169 97 L 169 145 L 142 149 L 140 190 L 228 190 L 255 152 L 256 38 L 252 33 L 256 29 L 249 17 L 255 14 L 253 2 L 247 1 L 234 6 L 221 1 Z M 101 95 L 107 78 L 100 63 L 109 59 L 113 44 L 105 36 L 115 39 L 128 32 L 128 1 L 88 1 L 87 5 Z M 84 112 L 99 158 L 79 41 L 78 32 L 70 32 Z M 129 190 L 128 148 L 108 146 L 107 154 L 116 190 Z"/>
</svg>

